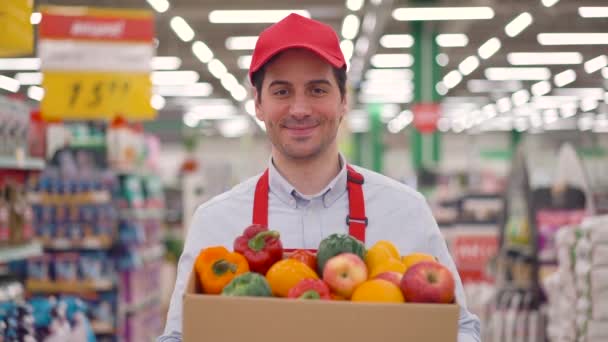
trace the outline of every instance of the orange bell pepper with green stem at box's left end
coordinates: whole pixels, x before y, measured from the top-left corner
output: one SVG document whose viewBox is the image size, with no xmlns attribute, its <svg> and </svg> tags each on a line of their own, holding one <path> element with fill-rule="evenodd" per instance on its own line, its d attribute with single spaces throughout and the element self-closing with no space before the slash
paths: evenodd
<svg viewBox="0 0 608 342">
<path fill-rule="evenodd" d="M 234 277 L 249 271 L 244 256 L 231 253 L 223 246 L 203 249 L 194 262 L 194 268 L 203 293 L 207 294 L 220 294 Z"/>
</svg>

